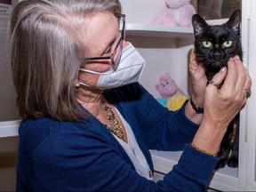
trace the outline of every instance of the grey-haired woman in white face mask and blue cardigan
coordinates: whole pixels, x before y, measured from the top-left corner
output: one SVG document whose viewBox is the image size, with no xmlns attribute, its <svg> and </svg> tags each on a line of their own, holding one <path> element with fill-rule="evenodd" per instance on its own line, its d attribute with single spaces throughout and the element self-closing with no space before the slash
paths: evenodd
<svg viewBox="0 0 256 192">
<path fill-rule="evenodd" d="M 213 77 L 215 85 L 225 78 L 219 90 L 206 86 L 192 51 L 194 93 L 172 112 L 138 83 L 145 60 L 125 41 L 118 0 L 21 1 L 12 12 L 10 35 L 23 119 L 17 191 L 207 188 L 220 141 L 244 107 L 244 89 L 251 89 L 239 58 Z M 149 148 L 184 150 L 157 183 Z"/>
</svg>

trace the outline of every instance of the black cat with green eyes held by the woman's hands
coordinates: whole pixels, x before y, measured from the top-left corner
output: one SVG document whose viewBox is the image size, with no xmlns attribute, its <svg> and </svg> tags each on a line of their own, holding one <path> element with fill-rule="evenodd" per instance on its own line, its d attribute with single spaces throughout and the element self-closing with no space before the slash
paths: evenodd
<svg viewBox="0 0 256 192">
<path fill-rule="evenodd" d="M 227 66 L 230 57 L 243 58 L 240 36 L 241 10 L 233 12 L 222 25 L 208 25 L 198 14 L 193 15 L 196 57 L 204 65 L 208 81 L 220 68 Z M 216 168 L 238 166 L 239 114 L 229 124 L 221 145 L 220 162 Z M 230 155 L 231 153 L 231 155 Z"/>
</svg>

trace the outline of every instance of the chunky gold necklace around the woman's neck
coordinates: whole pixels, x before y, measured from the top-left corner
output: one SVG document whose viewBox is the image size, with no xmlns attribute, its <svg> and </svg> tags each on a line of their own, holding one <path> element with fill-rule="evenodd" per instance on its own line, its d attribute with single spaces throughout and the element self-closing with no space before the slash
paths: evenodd
<svg viewBox="0 0 256 192">
<path fill-rule="evenodd" d="M 105 124 L 108 127 L 108 130 L 110 132 L 113 132 L 119 139 L 124 140 L 124 132 L 122 126 L 118 123 L 116 120 L 115 114 L 111 110 L 111 108 L 108 106 L 108 103 L 106 100 L 102 97 L 101 102 L 104 106 L 104 109 L 107 112 L 108 121 L 110 123 L 110 126 Z"/>
</svg>

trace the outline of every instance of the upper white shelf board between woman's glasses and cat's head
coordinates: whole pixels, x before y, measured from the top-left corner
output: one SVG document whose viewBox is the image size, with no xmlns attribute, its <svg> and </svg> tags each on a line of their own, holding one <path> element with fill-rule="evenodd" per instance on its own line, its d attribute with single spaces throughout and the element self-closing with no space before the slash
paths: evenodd
<svg viewBox="0 0 256 192">
<path fill-rule="evenodd" d="M 126 23 L 128 36 L 152 36 L 171 38 L 193 38 L 193 28 L 170 27 L 152 24 Z"/>
</svg>

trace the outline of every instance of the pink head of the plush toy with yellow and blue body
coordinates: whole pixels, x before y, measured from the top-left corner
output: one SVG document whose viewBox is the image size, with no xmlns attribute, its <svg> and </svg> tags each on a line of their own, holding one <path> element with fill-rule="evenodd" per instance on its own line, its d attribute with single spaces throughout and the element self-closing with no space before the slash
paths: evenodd
<svg viewBox="0 0 256 192">
<path fill-rule="evenodd" d="M 159 77 L 159 82 L 155 84 L 155 88 L 164 98 L 172 97 L 175 94 L 184 94 L 168 73 Z"/>
</svg>

